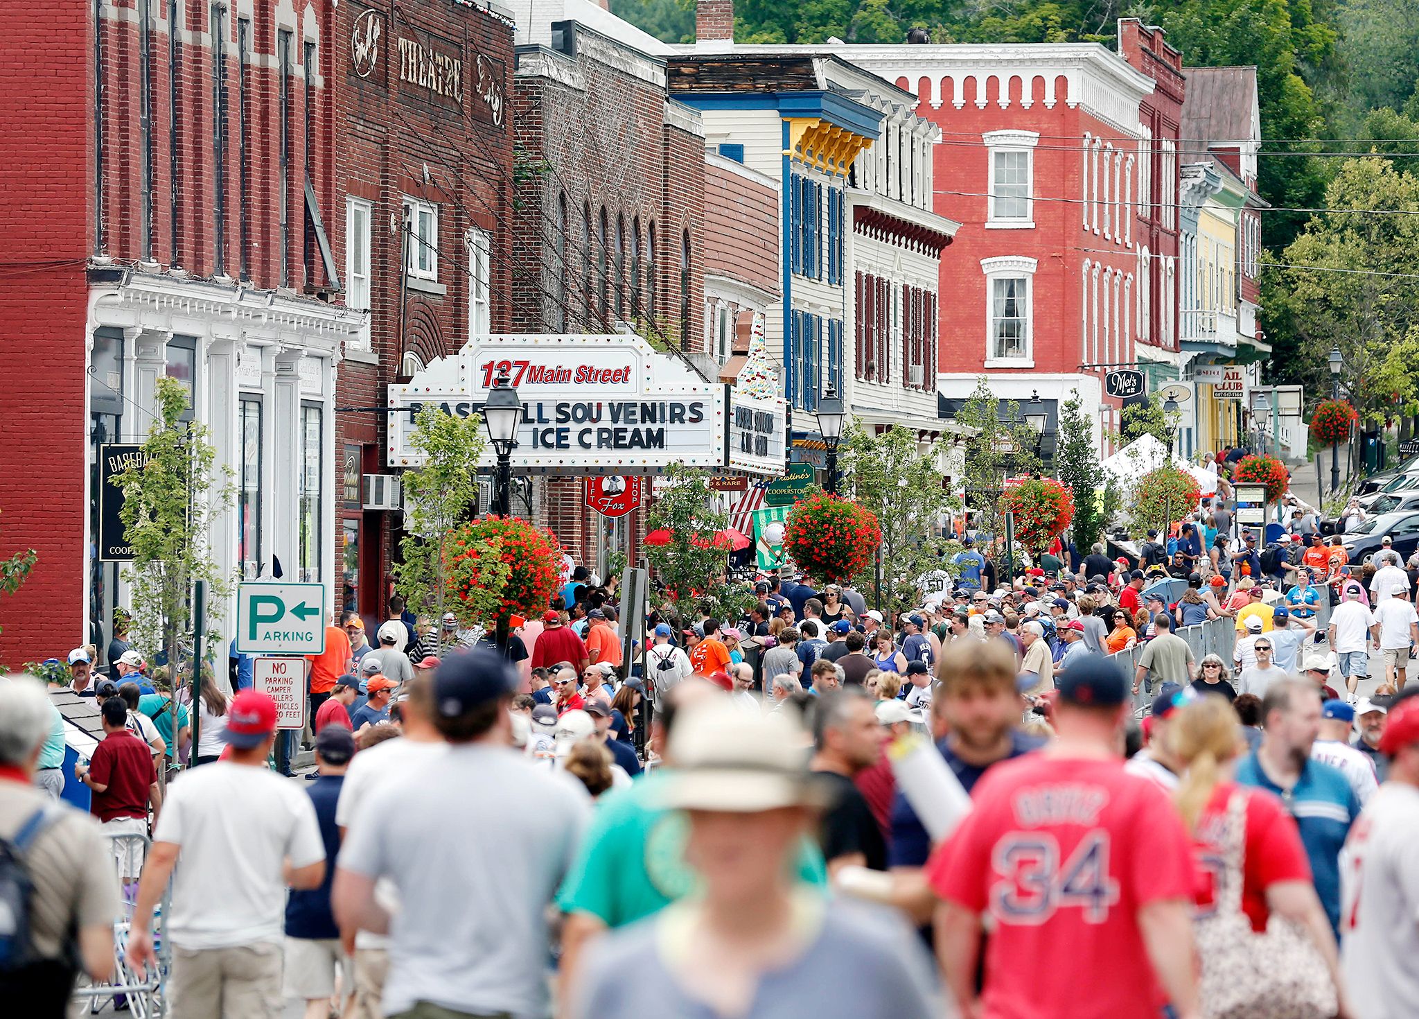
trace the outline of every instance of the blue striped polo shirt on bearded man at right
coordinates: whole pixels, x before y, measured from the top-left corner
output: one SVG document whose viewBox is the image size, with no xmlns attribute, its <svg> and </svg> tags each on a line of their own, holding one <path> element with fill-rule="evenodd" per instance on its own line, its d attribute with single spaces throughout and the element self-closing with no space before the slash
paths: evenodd
<svg viewBox="0 0 1419 1019">
<path fill-rule="evenodd" d="M 1349 826 L 1359 816 L 1359 800 L 1340 768 L 1321 761 L 1307 761 L 1290 792 L 1281 789 L 1261 771 L 1256 754 L 1237 764 L 1237 782 L 1266 789 L 1281 798 L 1296 819 L 1301 844 L 1311 861 L 1311 878 L 1331 927 L 1340 931 L 1340 850 Z"/>
</svg>

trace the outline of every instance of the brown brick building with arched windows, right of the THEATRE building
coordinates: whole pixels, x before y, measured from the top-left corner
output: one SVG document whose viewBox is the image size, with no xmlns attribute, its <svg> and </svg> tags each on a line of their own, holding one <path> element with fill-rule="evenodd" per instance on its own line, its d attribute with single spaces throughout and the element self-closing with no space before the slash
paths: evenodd
<svg viewBox="0 0 1419 1019">
<path fill-rule="evenodd" d="M 634 331 L 705 378 L 705 155 L 700 115 L 673 99 L 667 47 L 585 0 L 518 21 L 512 332 Z M 630 549 L 644 511 L 586 507 L 580 478 L 536 480 L 525 502 L 579 561 Z"/>
</svg>

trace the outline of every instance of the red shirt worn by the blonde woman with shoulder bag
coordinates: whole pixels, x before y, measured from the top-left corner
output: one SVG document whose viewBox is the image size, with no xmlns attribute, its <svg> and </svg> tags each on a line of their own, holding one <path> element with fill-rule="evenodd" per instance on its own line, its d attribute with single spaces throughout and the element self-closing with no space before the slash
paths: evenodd
<svg viewBox="0 0 1419 1019">
<path fill-rule="evenodd" d="M 1239 791 L 1246 796 L 1246 843 L 1242 861 L 1242 908 L 1252 920 L 1252 930 L 1264 931 L 1269 910 L 1266 890 L 1277 881 L 1310 881 L 1311 863 L 1301 844 L 1301 833 L 1281 800 L 1264 789 L 1249 789 L 1233 782 L 1219 782 L 1198 817 L 1192 850 L 1205 880 L 1198 891 L 1199 911 L 1212 908 L 1222 854 L 1226 850 L 1227 802 Z"/>
</svg>

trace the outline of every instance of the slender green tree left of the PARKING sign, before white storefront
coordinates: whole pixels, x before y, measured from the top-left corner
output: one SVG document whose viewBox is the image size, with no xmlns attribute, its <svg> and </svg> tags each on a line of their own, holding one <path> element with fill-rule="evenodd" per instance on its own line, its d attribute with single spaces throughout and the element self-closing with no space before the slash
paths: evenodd
<svg viewBox="0 0 1419 1019">
<path fill-rule="evenodd" d="M 193 633 L 192 589 L 207 583 L 207 612 L 227 595 L 226 578 L 211 556 L 211 521 L 231 501 L 230 471 L 216 468 L 210 430 L 184 422 L 187 387 L 160 378 L 155 389 L 158 416 L 143 443 L 143 463 L 115 477 L 123 490 L 123 539 L 133 558 L 123 569 L 132 592 L 133 643 L 149 660 L 166 656 L 176 687 L 183 640 Z M 216 627 L 207 627 L 217 641 Z M 211 650 L 192 649 L 197 657 Z"/>
</svg>

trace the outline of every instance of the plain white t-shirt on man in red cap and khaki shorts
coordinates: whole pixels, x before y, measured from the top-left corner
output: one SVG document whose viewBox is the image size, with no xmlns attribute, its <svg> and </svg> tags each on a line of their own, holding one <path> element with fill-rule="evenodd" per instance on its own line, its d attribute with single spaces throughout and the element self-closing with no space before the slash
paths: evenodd
<svg viewBox="0 0 1419 1019">
<path fill-rule="evenodd" d="M 153 842 L 180 847 L 167 932 L 179 948 L 280 942 L 285 931 L 282 863 L 325 860 L 305 791 L 265 768 L 216 761 L 167 788 Z"/>
</svg>

